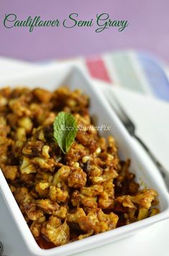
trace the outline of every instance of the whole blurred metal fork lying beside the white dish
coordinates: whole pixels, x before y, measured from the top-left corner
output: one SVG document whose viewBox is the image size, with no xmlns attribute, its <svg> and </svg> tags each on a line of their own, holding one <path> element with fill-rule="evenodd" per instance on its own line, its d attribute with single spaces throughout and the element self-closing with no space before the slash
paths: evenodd
<svg viewBox="0 0 169 256">
<path fill-rule="evenodd" d="M 117 97 L 114 95 L 114 93 L 111 90 L 109 90 L 109 92 L 104 90 L 104 95 L 106 96 L 106 99 L 109 101 L 109 105 L 111 106 L 111 108 L 113 108 L 114 111 L 116 112 L 117 116 L 119 116 L 119 119 L 122 121 L 122 123 L 124 124 L 124 127 L 126 127 L 129 134 L 132 137 L 134 137 L 138 142 L 140 142 L 142 147 L 146 150 L 146 152 L 148 153 L 148 155 L 150 156 L 150 158 L 152 159 L 152 161 L 155 163 L 158 170 L 162 174 L 163 179 L 165 179 L 165 184 L 168 187 L 168 171 L 165 169 L 165 167 L 162 165 L 162 163 L 160 163 L 160 161 L 157 160 L 157 158 L 150 151 L 150 149 L 147 147 L 147 145 L 145 145 L 145 142 L 143 142 L 140 139 L 140 137 L 138 137 L 136 135 L 136 133 L 135 133 L 136 127 L 135 127 L 133 121 L 129 118 L 129 116 L 124 111 L 124 108 L 122 107 L 121 103 L 119 103 Z"/>
</svg>

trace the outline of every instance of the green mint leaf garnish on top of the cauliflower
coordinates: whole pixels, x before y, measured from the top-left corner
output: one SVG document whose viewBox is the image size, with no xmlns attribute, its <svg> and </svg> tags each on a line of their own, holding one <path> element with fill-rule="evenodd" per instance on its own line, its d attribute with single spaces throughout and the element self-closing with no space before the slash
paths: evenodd
<svg viewBox="0 0 169 256">
<path fill-rule="evenodd" d="M 72 114 L 60 112 L 53 123 L 53 137 L 63 153 L 67 153 L 76 138 L 78 127 Z"/>
</svg>

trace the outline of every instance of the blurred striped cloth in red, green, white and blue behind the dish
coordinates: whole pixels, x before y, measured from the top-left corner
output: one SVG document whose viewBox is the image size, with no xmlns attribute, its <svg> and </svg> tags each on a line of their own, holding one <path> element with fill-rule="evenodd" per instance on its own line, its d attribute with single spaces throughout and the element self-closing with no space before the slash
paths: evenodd
<svg viewBox="0 0 169 256">
<path fill-rule="evenodd" d="M 168 75 L 150 54 L 115 51 L 85 59 L 85 64 L 93 78 L 169 101 Z"/>
</svg>

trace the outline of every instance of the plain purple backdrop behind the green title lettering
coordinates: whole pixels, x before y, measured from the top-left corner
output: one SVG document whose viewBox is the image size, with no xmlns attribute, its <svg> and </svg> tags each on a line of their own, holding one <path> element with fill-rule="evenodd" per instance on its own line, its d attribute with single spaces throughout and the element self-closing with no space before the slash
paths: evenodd
<svg viewBox="0 0 169 256">
<path fill-rule="evenodd" d="M 19 20 L 40 15 L 42 20 L 63 20 L 71 12 L 83 19 L 108 12 L 112 20 L 128 20 L 122 32 L 112 27 L 95 33 L 94 27 L 35 27 L 6 29 L 4 15 L 16 13 Z M 169 62 L 168 0 L 1 0 L 0 55 L 39 61 L 90 56 L 104 51 L 134 48 L 149 51 Z"/>
</svg>

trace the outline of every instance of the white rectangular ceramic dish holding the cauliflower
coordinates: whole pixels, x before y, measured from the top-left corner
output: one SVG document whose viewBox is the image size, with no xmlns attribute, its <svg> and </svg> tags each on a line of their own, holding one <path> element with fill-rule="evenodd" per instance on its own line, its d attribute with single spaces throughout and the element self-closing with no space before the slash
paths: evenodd
<svg viewBox="0 0 169 256">
<path fill-rule="evenodd" d="M 55 256 L 55 255 L 71 255 L 76 252 L 82 252 L 86 249 L 99 247 L 109 242 L 114 242 L 124 237 L 131 236 L 137 233 L 146 226 L 169 218 L 169 195 L 164 187 L 160 187 L 158 183 L 157 169 L 149 162 L 145 161 L 140 156 L 137 148 L 135 148 L 131 137 L 122 123 L 117 118 L 114 111 L 107 103 L 101 90 L 94 87 L 91 80 L 86 76 L 81 69 L 70 67 L 69 65 L 61 64 L 60 67 L 42 67 L 35 71 L 22 73 L 20 76 L 7 77 L 5 81 L 0 81 L 0 87 L 10 85 L 28 86 L 29 88 L 41 87 L 48 90 L 55 90 L 60 85 L 68 85 L 72 89 L 80 88 L 84 93 L 87 93 L 91 98 L 90 114 L 93 117 L 96 125 L 106 124 L 110 126 L 110 131 L 102 131 L 102 136 L 114 135 L 117 144 L 119 145 L 119 155 L 122 159 L 130 158 L 132 160 L 131 171 L 136 174 L 137 181 L 143 181 L 147 187 L 153 188 L 158 192 L 160 200 L 160 213 L 156 216 L 146 218 L 142 221 L 131 223 L 127 226 L 122 226 L 117 229 L 106 231 L 102 234 L 90 236 L 80 241 L 71 242 L 60 247 L 52 249 L 41 249 L 34 237 L 32 236 L 29 227 L 27 226 L 24 217 L 22 216 L 19 206 L 12 195 L 11 190 L 0 170 L 0 193 L 9 208 L 12 218 L 17 223 L 17 227 L 22 234 L 25 244 L 32 255 L 36 256 Z"/>
</svg>

